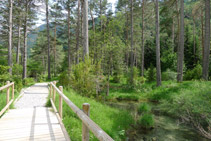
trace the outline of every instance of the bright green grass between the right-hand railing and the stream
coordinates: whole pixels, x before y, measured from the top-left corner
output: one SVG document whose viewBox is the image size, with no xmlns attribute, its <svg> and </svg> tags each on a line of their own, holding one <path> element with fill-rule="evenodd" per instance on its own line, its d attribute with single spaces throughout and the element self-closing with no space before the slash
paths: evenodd
<svg viewBox="0 0 211 141">
<path fill-rule="evenodd" d="M 132 116 L 127 111 L 111 108 L 93 99 L 82 97 L 73 90 L 64 90 L 64 94 L 80 109 L 82 108 L 83 103 L 89 103 L 91 105 L 91 119 L 115 140 L 124 139 L 126 129 L 134 123 Z M 57 109 L 58 99 L 57 95 Z M 50 106 L 49 102 L 47 105 Z M 66 103 L 63 103 L 63 123 L 72 140 L 81 140 L 82 122 Z M 90 140 L 93 141 L 97 139 L 91 134 Z"/>
</svg>

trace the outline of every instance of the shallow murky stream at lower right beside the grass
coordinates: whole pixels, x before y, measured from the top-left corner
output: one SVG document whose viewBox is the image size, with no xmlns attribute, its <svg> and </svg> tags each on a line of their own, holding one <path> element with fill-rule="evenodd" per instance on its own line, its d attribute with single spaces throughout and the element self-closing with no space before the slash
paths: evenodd
<svg viewBox="0 0 211 141">
<path fill-rule="evenodd" d="M 137 102 L 107 102 L 107 105 L 130 111 L 138 119 Z M 155 127 L 149 131 L 131 126 L 127 131 L 128 141 L 208 141 L 190 126 L 179 124 L 179 121 L 165 116 L 155 115 Z"/>
</svg>

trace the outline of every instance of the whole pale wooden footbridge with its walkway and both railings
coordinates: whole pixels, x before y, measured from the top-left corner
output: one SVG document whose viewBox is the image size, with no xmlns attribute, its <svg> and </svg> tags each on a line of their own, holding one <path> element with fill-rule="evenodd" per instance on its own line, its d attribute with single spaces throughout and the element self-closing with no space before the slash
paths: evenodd
<svg viewBox="0 0 211 141">
<path fill-rule="evenodd" d="M 62 122 L 63 101 L 82 121 L 82 141 L 89 140 L 90 130 L 100 141 L 113 141 L 89 118 L 90 105 L 84 103 L 83 110 L 79 109 L 64 95 L 62 86 L 56 87 L 55 81 L 27 88 L 16 101 L 14 101 L 14 85 L 13 82 L 8 81 L 7 85 L 0 87 L 0 91 L 6 90 L 6 106 L 0 111 L 0 117 L 2 116 L 0 118 L 0 141 L 70 141 L 71 135 L 68 134 Z M 49 89 L 52 108 L 45 107 Z M 56 94 L 59 95 L 58 111 L 54 104 Z M 45 100 L 44 104 L 43 99 Z M 16 109 L 10 109 L 12 103 Z"/>
</svg>

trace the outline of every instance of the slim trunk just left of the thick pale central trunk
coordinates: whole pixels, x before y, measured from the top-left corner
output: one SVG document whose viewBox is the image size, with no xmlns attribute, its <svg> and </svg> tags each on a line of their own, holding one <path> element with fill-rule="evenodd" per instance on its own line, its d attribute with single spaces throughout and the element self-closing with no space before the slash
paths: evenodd
<svg viewBox="0 0 211 141">
<path fill-rule="evenodd" d="M 76 64 L 79 63 L 80 7 L 80 0 L 78 0 L 78 21 L 76 29 Z"/>
</svg>

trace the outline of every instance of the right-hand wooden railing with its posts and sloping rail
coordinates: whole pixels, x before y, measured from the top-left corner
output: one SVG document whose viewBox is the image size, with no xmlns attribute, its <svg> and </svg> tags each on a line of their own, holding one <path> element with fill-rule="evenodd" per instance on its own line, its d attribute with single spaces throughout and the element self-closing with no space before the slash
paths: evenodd
<svg viewBox="0 0 211 141">
<path fill-rule="evenodd" d="M 89 140 L 89 130 L 100 140 L 100 141 L 113 141 L 113 139 L 103 131 L 94 121 L 89 118 L 89 109 L 90 105 L 88 103 L 84 103 L 83 111 L 79 109 L 68 97 L 66 97 L 63 93 L 63 87 L 60 86 L 59 89 L 56 87 L 56 82 L 50 83 L 50 100 L 54 111 L 57 113 L 57 109 L 55 106 L 55 98 L 56 93 L 59 94 L 59 118 L 62 121 L 62 102 L 63 100 L 67 103 L 67 105 L 73 110 L 73 112 L 81 119 L 82 121 L 82 141 Z M 63 126 L 63 125 L 62 125 Z M 64 127 L 63 127 L 64 128 Z M 64 128 L 65 129 L 65 128 Z"/>
</svg>

